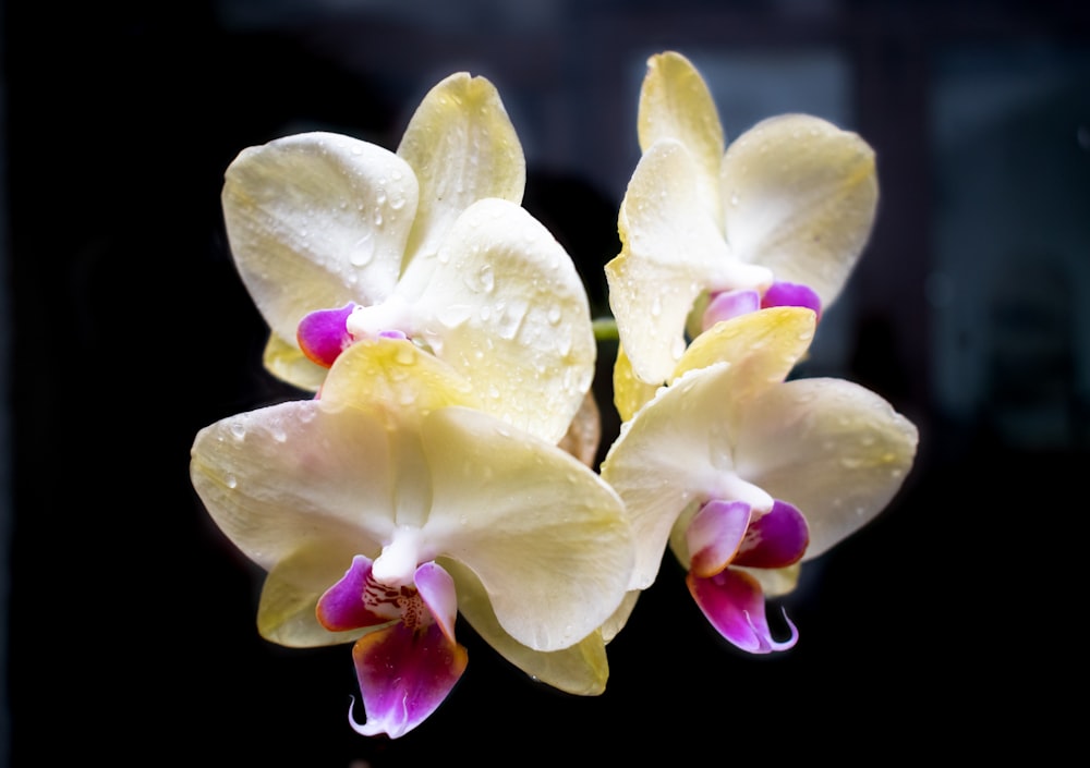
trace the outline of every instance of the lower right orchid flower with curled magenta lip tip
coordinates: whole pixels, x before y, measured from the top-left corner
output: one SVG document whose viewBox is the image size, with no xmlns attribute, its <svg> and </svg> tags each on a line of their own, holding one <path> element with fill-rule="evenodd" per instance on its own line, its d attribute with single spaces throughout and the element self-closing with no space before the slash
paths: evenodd
<svg viewBox="0 0 1090 768">
<path fill-rule="evenodd" d="M 602 465 L 635 537 L 629 588 L 654 582 L 669 546 L 711 623 L 751 653 L 795 644 L 794 625 L 773 638 L 766 594 L 792 589 L 799 563 L 881 512 L 916 454 L 916 427 L 873 392 L 785 380 L 815 322 L 782 306 L 716 324 Z"/>
</svg>

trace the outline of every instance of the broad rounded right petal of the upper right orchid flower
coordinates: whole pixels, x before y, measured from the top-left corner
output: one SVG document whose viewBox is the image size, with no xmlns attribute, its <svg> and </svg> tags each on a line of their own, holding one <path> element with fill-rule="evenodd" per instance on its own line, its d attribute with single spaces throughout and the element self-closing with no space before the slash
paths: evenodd
<svg viewBox="0 0 1090 768">
<path fill-rule="evenodd" d="M 735 257 L 832 304 L 874 223 L 877 175 L 867 142 L 819 118 L 771 118 L 730 144 L 722 174 Z"/>
</svg>

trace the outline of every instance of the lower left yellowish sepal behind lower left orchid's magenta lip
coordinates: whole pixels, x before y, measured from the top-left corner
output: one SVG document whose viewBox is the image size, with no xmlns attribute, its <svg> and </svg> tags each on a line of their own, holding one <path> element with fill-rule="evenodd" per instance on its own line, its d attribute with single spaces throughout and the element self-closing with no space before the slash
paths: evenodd
<svg viewBox="0 0 1090 768">
<path fill-rule="evenodd" d="M 325 539 L 292 552 L 269 571 L 257 607 L 257 630 L 274 643 L 306 648 L 350 643 L 364 629 L 330 632 L 317 620 L 315 608 L 332 584 L 344 575 L 356 552 L 351 539 Z"/>
</svg>

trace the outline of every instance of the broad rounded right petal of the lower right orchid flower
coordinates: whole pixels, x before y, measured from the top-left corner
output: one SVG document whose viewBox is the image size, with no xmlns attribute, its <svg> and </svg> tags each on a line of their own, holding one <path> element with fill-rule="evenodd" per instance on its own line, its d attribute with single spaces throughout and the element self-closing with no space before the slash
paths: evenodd
<svg viewBox="0 0 1090 768">
<path fill-rule="evenodd" d="M 735 459 L 741 476 L 806 516 L 809 560 L 886 507 L 917 441 L 916 426 L 874 392 L 841 379 L 799 379 L 742 410 Z"/>
</svg>

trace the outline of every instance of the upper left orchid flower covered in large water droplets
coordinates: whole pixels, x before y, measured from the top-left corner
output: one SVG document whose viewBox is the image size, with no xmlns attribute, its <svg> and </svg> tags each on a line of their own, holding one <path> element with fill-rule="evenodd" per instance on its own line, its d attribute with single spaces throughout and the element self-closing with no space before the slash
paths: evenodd
<svg viewBox="0 0 1090 768">
<path fill-rule="evenodd" d="M 361 339 L 408 338 L 482 407 L 556 442 L 596 348 L 581 278 L 521 206 L 525 160 L 496 88 L 450 75 L 397 153 L 332 133 L 243 150 L 226 174 L 227 234 L 270 328 L 266 367 L 317 391 Z"/>
</svg>

